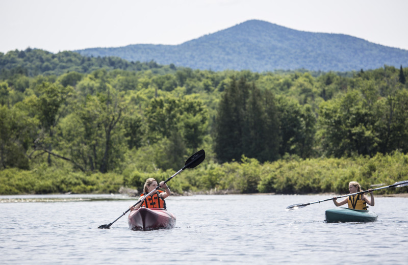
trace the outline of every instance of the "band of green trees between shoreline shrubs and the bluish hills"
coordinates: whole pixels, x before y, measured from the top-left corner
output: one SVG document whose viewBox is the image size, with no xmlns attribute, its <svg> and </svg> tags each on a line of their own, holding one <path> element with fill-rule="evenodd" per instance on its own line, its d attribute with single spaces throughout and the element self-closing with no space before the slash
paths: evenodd
<svg viewBox="0 0 408 265">
<path fill-rule="evenodd" d="M 25 50 L 21 57 L 31 52 L 39 51 Z M 72 56 L 66 60 L 78 58 Z M 138 187 L 146 174 L 177 170 L 201 148 L 209 163 L 226 167 L 247 158 L 267 165 L 288 157 L 374 157 L 408 149 L 408 69 L 402 66 L 262 74 L 101 67 L 31 76 L 15 70 L 20 66 L 5 65 L 3 174 L 13 168 L 64 168 L 84 176 L 119 174 L 120 184 Z M 208 174 L 201 179 L 206 186 L 190 176 L 186 181 L 202 189 L 230 187 Z M 81 179 L 84 184 L 86 177 Z M 238 190 L 259 191 L 260 179 Z M 180 183 L 180 192 L 191 185 Z"/>
</svg>

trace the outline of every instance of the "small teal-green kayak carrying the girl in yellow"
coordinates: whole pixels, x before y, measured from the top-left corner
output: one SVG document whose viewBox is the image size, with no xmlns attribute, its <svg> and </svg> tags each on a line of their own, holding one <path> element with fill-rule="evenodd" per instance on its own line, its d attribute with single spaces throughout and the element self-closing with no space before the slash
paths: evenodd
<svg viewBox="0 0 408 265">
<path fill-rule="evenodd" d="M 326 210 L 326 222 L 375 222 L 377 214 L 370 210 L 354 210 L 350 208 L 334 208 Z"/>
</svg>

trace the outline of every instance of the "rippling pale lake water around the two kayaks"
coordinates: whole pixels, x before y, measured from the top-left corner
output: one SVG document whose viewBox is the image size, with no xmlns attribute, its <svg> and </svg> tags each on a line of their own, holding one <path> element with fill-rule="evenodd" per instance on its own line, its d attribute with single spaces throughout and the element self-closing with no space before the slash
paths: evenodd
<svg viewBox="0 0 408 265">
<path fill-rule="evenodd" d="M 133 231 L 135 198 L 0 196 L 0 264 L 408 264 L 408 198 L 375 197 L 374 223 L 324 222 L 324 195 L 170 196 L 170 230 Z"/>
</svg>

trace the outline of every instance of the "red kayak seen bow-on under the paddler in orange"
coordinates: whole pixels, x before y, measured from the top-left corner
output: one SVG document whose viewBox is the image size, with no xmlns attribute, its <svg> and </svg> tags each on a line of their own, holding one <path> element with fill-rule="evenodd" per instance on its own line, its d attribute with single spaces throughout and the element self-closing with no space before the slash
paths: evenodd
<svg viewBox="0 0 408 265">
<path fill-rule="evenodd" d="M 139 208 L 131 211 L 127 218 L 133 230 L 170 229 L 175 226 L 175 216 L 163 208 Z"/>
</svg>

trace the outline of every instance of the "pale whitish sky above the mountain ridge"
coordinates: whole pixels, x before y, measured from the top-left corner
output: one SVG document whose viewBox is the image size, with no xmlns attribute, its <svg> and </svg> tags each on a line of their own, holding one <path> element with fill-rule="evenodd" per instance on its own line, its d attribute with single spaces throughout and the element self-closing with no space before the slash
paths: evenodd
<svg viewBox="0 0 408 265">
<path fill-rule="evenodd" d="M 0 52 L 181 44 L 259 19 L 408 50 L 406 0 L 0 0 Z"/>
</svg>

